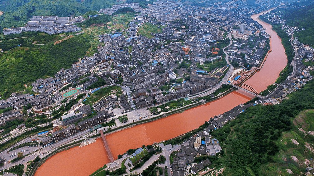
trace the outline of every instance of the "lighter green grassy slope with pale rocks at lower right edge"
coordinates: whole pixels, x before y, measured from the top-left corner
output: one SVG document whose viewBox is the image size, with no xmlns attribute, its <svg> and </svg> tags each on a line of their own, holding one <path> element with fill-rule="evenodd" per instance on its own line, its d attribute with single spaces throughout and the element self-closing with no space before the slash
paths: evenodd
<svg viewBox="0 0 314 176">
<path fill-rule="evenodd" d="M 281 137 L 276 141 L 279 154 L 272 157 L 275 162 L 266 164 L 262 170 L 263 173 L 267 175 L 279 175 L 281 172 L 284 173 L 282 175 L 290 175 L 285 170 L 286 168 L 291 169 L 294 173 L 305 172 L 307 164 L 304 163 L 308 163 L 313 158 L 310 148 L 313 145 L 314 137 L 308 133 L 314 131 L 313 120 L 313 110 L 301 111 L 295 117 L 292 121 L 293 126 L 291 130 L 283 132 Z M 295 161 L 292 158 L 293 156 L 298 160 Z"/>
</svg>

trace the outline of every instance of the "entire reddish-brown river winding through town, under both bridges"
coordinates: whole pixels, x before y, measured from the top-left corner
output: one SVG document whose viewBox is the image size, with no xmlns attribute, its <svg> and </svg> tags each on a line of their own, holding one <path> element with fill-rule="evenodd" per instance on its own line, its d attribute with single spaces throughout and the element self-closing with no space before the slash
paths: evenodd
<svg viewBox="0 0 314 176">
<path fill-rule="evenodd" d="M 257 19 L 260 14 L 252 15 L 252 18 L 262 24 L 266 32 L 271 35 L 272 52 L 268 54 L 262 69 L 245 82 L 257 92 L 273 84 L 287 64 L 281 39 L 271 30 L 269 24 Z M 125 153 L 130 148 L 168 140 L 196 129 L 211 117 L 229 111 L 250 99 L 252 99 L 251 95 L 242 91 L 233 91 L 205 105 L 110 134 L 106 136 L 107 142 L 113 156 L 117 159 L 117 155 Z M 36 171 L 35 176 L 88 176 L 108 162 L 101 139 L 97 139 L 95 143 L 82 148 L 74 147 L 57 153 Z"/>
</svg>

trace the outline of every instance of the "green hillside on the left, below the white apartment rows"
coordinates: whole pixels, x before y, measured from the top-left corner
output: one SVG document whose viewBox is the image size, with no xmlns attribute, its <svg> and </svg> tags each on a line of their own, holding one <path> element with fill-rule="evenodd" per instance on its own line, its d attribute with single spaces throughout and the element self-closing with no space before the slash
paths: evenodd
<svg viewBox="0 0 314 176">
<path fill-rule="evenodd" d="M 0 54 L 1 96 L 7 97 L 14 91 L 24 90 L 24 84 L 53 76 L 61 68 L 69 68 L 78 58 L 83 58 L 91 47 L 87 35 L 71 36 L 54 45 L 68 35 L 37 33 L 34 37 L 0 42 L 0 48 L 8 51 Z"/>
</svg>

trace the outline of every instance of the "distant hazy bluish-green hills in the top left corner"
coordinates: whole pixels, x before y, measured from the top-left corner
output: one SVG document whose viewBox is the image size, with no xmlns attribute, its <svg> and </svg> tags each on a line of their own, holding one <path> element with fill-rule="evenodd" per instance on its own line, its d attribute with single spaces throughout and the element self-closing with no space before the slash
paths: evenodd
<svg viewBox="0 0 314 176">
<path fill-rule="evenodd" d="M 0 10 L 4 13 L 0 16 L 0 31 L 23 26 L 33 15 L 80 16 L 90 10 L 109 8 L 114 3 L 114 0 L 2 0 Z"/>
</svg>

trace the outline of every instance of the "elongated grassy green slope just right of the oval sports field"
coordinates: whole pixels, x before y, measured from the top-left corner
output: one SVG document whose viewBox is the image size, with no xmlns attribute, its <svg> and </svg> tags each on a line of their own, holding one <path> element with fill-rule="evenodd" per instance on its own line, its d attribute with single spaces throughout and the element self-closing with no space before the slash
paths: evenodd
<svg viewBox="0 0 314 176">
<path fill-rule="evenodd" d="M 84 101 L 83 103 L 88 105 L 88 104 L 94 104 L 96 101 L 100 100 L 103 97 L 106 97 L 113 92 L 118 92 L 121 91 L 121 88 L 119 86 L 108 86 L 104 87 L 102 89 L 99 89 L 98 91 L 95 91 L 93 94 L 91 94 L 87 100 Z"/>
</svg>

